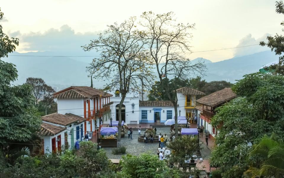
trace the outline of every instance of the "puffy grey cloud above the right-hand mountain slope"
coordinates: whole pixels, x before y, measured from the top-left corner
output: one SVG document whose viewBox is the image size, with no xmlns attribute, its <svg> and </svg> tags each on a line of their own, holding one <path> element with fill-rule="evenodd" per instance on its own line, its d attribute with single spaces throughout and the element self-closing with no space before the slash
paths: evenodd
<svg viewBox="0 0 284 178">
<path fill-rule="evenodd" d="M 259 42 L 261 41 L 267 41 L 266 37 L 270 35 L 271 34 L 266 33 L 262 37 L 255 39 L 254 37 L 251 36 L 251 34 L 248 34 L 240 40 L 237 47 L 259 44 Z M 255 46 L 250 46 L 250 47 L 240 47 L 240 48 L 235 49 L 234 57 L 250 55 L 250 54 L 259 53 L 259 52 L 267 51 L 267 50 L 269 50 L 268 47 L 264 47 L 260 45 L 255 45 Z"/>
</svg>

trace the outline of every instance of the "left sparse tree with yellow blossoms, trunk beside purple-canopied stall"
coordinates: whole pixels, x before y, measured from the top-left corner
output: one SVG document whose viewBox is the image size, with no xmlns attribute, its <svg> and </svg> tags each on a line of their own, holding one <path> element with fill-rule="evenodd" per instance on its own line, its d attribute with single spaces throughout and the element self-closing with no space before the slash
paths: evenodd
<svg viewBox="0 0 284 178">
<path fill-rule="evenodd" d="M 126 94 L 131 88 L 138 88 L 138 79 L 143 76 L 144 86 L 151 86 L 153 63 L 148 59 L 147 50 L 144 49 L 147 40 L 144 33 L 135 26 L 136 18 L 125 20 L 120 25 L 108 26 L 104 34 L 98 39 L 91 40 L 90 44 L 83 46 L 85 51 L 95 49 L 101 57 L 94 58 L 87 70 L 97 80 L 107 80 L 106 87 L 110 90 L 119 88 L 121 101 L 119 103 L 118 133 L 121 131 L 121 107 Z M 118 145 L 121 135 L 118 134 Z"/>
</svg>

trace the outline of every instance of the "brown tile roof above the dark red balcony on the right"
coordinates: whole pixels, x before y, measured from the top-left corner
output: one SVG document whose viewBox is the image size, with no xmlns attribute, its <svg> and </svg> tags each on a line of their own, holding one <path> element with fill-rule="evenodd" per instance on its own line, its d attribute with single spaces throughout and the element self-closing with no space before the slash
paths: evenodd
<svg viewBox="0 0 284 178">
<path fill-rule="evenodd" d="M 216 107 L 225 103 L 226 101 L 230 101 L 235 97 L 237 97 L 237 95 L 232 91 L 231 88 L 224 88 L 223 90 L 219 90 L 207 96 L 204 96 L 196 100 L 196 102 L 203 105 Z"/>
</svg>

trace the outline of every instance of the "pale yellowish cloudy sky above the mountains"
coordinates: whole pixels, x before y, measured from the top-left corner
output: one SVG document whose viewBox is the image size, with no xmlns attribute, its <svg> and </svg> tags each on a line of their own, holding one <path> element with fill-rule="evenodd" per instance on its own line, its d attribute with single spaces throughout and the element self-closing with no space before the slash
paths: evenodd
<svg viewBox="0 0 284 178">
<path fill-rule="evenodd" d="M 281 33 L 283 15 L 276 14 L 272 0 L 188 0 L 188 1 L 93 1 L 93 0 L 13 0 L 2 1 L 3 31 L 18 37 L 17 52 L 52 51 L 61 55 L 83 55 L 80 46 L 95 39 L 114 22 L 144 11 L 173 11 L 177 22 L 195 23 L 191 50 L 204 51 L 258 44 L 268 35 Z M 267 47 L 252 46 L 230 50 L 199 52 L 188 58 L 212 62 L 248 55 Z"/>
</svg>

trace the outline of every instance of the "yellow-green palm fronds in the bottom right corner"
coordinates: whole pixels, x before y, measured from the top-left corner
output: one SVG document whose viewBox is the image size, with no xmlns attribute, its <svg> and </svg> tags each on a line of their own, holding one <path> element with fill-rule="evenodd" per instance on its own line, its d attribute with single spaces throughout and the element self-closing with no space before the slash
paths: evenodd
<svg viewBox="0 0 284 178">
<path fill-rule="evenodd" d="M 249 156 L 256 160 L 251 162 L 245 177 L 284 177 L 284 144 L 275 134 L 265 135 L 258 144 L 254 144 Z"/>
</svg>

